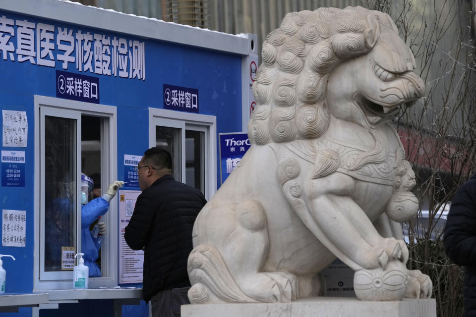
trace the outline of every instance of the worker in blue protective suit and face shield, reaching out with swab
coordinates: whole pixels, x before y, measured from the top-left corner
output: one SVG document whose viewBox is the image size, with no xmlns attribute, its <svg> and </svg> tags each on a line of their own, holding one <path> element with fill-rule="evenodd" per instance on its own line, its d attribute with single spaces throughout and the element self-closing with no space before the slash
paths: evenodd
<svg viewBox="0 0 476 317">
<path fill-rule="evenodd" d="M 93 180 L 91 177 L 81 173 L 81 252 L 84 253 L 84 265 L 89 267 L 90 277 L 101 276 L 101 269 L 96 264 L 99 248 L 101 247 L 101 240 L 98 238 L 97 233 L 104 235 L 106 233 L 106 224 L 99 221 L 92 232 L 89 230 L 89 226 L 99 216 L 108 211 L 109 202 L 116 196 L 118 189 L 122 185 L 124 185 L 124 182 L 120 180 L 112 182 L 109 184 L 106 194 L 89 202 L 93 191 Z M 96 233 L 96 231 L 98 232 Z"/>
</svg>

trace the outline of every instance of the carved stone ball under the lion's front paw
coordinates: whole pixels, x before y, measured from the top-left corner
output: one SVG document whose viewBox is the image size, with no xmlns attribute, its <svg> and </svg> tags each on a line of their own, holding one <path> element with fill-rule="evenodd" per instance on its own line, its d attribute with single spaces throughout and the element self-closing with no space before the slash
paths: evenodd
<svg viewBox="0 0 476 317">
<path fill-rule="evenodd" d="M 400 301 L 407 290 L 407 268 L 392 261 L 385 269 L 361 269 L 354 273 L 354 290 L 362 301 Z"/>
</svg>

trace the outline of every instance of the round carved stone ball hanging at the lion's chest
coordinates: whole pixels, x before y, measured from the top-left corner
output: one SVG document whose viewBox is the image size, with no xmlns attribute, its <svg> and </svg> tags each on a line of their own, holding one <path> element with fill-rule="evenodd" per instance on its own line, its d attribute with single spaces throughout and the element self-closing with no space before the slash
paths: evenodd
<svg viewBox="0 0 476 317">
<path fill-rule="evenodd" d="M 387 216 L 397 222 L 406 222 L 418 213 L 418 199 L 411 192 L 392 195 L 385 211 Z"/>
</svg>

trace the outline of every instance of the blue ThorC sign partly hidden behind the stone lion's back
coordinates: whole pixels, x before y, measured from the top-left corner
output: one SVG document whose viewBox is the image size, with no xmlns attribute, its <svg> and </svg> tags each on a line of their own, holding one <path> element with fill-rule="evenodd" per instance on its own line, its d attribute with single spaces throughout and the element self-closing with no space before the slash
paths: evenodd
<svg viewBox="0 0 476 317">
<path fill-rule="evenodd" d="M 225 182 L 251 143 L 246 132 L 220 133 L 220 174 L 221 182 Z"/>
</svg>

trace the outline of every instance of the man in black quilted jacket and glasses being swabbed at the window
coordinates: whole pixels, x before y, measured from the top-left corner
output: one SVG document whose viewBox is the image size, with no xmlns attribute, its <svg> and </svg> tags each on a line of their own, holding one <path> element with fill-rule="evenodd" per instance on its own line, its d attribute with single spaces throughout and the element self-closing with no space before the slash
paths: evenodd
<svg viewBox="0 0 476 317">
<path fill-rule="evenodd" d="M 152 316 L 180 316 L 180 305 L 189 304 L 192 227 L 206 200 L 199 190 L 174 179 L 167 151 L 145 151 L 136 170 L 142 193 L 124 238 L 131 249 L 144 249 L 143 296 L 152 303 Z"/>
</svg>

